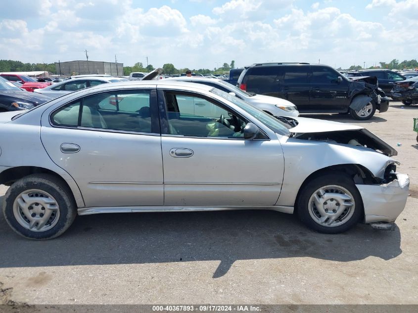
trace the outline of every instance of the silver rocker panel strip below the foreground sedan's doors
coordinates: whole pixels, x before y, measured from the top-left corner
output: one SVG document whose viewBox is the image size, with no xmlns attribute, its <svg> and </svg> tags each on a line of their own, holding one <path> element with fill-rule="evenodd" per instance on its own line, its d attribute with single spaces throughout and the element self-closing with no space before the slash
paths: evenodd
<svg viewBox="0 0 418 313">
<path fill-rule="evenodd" d="M 92 215 L 101 213 L 140 213 L 140 212 L 192 212 L 192 211 L 232 211 L 232 210 L 271 210 L 293 214 L 292 206 L 143 206 L 143 207 L 91 207 L 79 208 L 78 215 Z"/>
</svg>

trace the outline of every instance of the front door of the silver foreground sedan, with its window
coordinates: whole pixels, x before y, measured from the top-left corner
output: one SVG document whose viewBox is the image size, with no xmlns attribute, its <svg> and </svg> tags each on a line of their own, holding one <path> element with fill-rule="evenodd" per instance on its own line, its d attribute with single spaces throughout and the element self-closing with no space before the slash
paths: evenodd
<svg viewBox="0 0 418 313">
<path fill-rule="evenodd" d="M 168 124 L 161 137 L 165 205 L 276 203 L 284 163 L 277 137 L 245 140 L 247 121 L 199 94 L 159 89 L 158 98 Z"/>
</svg>

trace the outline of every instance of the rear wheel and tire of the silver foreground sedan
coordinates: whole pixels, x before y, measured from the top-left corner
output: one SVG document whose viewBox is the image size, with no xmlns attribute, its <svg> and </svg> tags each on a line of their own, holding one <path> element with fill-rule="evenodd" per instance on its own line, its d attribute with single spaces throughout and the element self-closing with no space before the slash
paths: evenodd
<svg viewBox="0 0 418 313">
<path fill-rule="evenodd" d="M 36 240 L 61 235 L 74 222 L 77 206 L 69 187 L 48 174 L 15 181 L 3 200 L 3 215 L 19 235 Z"/>
</svg>

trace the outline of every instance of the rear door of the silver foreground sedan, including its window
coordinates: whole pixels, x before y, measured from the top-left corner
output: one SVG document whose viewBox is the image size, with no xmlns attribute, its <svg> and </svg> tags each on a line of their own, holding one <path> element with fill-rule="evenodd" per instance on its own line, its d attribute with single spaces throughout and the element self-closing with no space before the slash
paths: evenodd
<svg viewBox="0 0 418 313">
<path fill-rule="evenodd" d="M 155 89 L 102 92 L 44 113 L 41 138 L 87 207 L 162 205 L 157 115 Z"/>
</svg>

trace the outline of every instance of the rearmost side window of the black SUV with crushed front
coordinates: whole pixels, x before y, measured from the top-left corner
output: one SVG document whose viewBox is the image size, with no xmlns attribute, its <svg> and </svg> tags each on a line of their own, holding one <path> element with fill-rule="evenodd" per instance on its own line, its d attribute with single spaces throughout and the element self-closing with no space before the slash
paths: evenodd
<svg viewBox="0 0 418 313">
<path fill-rule="evenodd" d="M 279 82 L 280 69 L 278 66 L 256 66 L 247 72 L 247 91 L 257 94 L 266 94 L 275 92 Z"/>
</svg>

